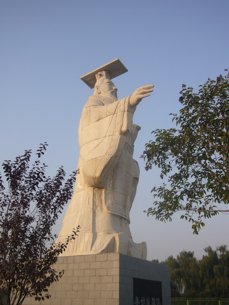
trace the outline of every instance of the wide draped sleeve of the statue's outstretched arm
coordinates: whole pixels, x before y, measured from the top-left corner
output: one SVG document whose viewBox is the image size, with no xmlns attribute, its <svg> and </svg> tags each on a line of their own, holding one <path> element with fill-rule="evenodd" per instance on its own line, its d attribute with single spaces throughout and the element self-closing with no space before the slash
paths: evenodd
<svg viewBox="0 0 229 305">
<path fill-rule="evenodd" d="M 89 100 L 84 106 L 78 132 L 81 172 L 88 186 L 103 188 L 122 154 L 136 109 L 130 106 L 129 99 L 130 96 L 107 105 Z"/>
</svg>

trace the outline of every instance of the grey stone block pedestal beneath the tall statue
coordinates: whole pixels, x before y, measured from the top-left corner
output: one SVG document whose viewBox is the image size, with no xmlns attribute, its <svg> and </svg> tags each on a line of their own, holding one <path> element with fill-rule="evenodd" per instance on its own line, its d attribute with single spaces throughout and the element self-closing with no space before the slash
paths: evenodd
<svg viewBox="0 0 229 305">
<path fill-rule="evenodd" d="M 41 302 L 27 298 L 23 305 L 171 304 L 169 267 L 165 265 L 121 253 L 107 253 L 60 257 L 54 267 L 65 272 L 59 282 L 50 286 L 51 298 Z M 140 295 L 139 291 L 134 296 L 135 279 L 149 280 L 142 281 L 143 285 L 159 284 L 162 299 L 156 296 L 154 299 L 144 292 Z"/>
</svg>

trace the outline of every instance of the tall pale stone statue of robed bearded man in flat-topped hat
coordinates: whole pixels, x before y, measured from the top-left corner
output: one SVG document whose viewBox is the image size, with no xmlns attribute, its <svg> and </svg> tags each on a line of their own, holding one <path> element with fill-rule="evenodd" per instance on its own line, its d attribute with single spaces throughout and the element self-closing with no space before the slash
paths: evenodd
<svg viewBox="0 0 229 305">
<path fill-rule="evenodd" d="M 139 178 L 139 166 L 132 156 L 140 127 L 133 125 L 132 119 L 136 106 L 154 86 L 140 87 L 118 100 L 118 89 L 111 79 L 126 71 L 115 59 L 81 77 L 95 89 L 82 111 L 78 128 L 80 174 L 57 242 L 71 235 L 72 228 L 81 228 L 62 256 L 119 252 L 147 257 L 146 243 L 133 242 L 129 229 Z"/>
</svg>

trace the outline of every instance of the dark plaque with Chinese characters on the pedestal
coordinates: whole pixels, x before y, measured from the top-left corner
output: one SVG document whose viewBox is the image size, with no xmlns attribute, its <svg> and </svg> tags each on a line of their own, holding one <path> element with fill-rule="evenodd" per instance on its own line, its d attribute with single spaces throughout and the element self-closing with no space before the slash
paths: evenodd
<svg viewBox="0 0 229 305">
<path fill-rule="evenodd" d="M 162 282 L 133 278 L 133 305 L 162 305 Z"/>
</svg>

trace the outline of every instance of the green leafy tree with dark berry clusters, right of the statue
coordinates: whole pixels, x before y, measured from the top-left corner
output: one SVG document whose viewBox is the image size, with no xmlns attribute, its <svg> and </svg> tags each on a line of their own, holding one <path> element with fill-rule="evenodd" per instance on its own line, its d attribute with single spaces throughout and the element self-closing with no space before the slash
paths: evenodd
<svg viewBox="0 0 229 305">
<path fill-rule="evenodd" d="M 152 131 L 155 140 L 146 144 L 141 156 L 146 170 L 161 168 L 170 187 L 154 187 L 156 200 L 147 215 L 171 220 L 177 211 L 192 224 L 193 233 L 219 212 L 217 205 L 229 203 L 229 74 L 208 79 L 199 92 L 182 85 L 180 115 L 172 114 L 176 128 Z M 172 172 L 173 171 L 173 172 Z"/>
</svg>

